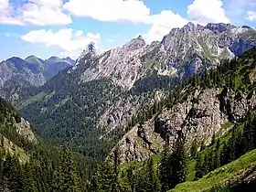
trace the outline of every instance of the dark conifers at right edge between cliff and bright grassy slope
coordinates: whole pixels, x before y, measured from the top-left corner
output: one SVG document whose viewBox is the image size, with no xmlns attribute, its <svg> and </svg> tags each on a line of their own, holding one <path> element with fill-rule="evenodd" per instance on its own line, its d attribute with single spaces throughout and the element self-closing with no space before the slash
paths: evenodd
<svg viewBox="0 0 256 192">
<path fill-rule="evenodd" d="M 222 165 L 229 164 L 240 158 L 241 155 L 256 148 L 255 114 L 249 114 L 243 121 L 243 123 L 235 124 L 231 130 L 228 141 L 223 141 L 221 144 L 220 140 L 217 139 L 215 144 L 211 144 L 203 153 L 198 155 L 196 180 Z M 240 127 L 242 127 L 242 129 Z"/>
</svg>

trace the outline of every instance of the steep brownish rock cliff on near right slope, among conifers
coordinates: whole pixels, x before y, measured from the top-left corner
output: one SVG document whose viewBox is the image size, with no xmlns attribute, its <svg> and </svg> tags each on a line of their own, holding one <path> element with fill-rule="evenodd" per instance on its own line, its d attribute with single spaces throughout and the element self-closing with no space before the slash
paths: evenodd
<svg viewBox="0 0 256 192">
<path fill-rule="evenodd" d="M 250 97 L 249 97 L 250 94 Z M 233 91 L 224 88 L 192 92 L 187 101 L 164 110 L 157 118 L 133 129 L 119 142 L 121 162 L 141 161 L 157 154 L 165 143 L 173 144 L 177 133 L 186 136 L 186 144 L 209 138 L 225 123 L 236 122 L 255 109 L 255 91 L 235 100 Z"/>
</svg>

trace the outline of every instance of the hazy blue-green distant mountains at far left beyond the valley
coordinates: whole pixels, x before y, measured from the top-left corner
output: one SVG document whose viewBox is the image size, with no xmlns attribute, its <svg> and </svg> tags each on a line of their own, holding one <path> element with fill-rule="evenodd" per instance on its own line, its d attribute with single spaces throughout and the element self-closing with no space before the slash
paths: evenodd
<svg viewBox="0 0 256 192">
<path fill-rule="evenodd" d="M 59 70 L 70 66 L 58 57 L 46 60 L 36 56 L 6 59 L 0 63 L 0 96 L 18 100 L 22 88 L 41 86 L 58 74 Z"/>
</svg>

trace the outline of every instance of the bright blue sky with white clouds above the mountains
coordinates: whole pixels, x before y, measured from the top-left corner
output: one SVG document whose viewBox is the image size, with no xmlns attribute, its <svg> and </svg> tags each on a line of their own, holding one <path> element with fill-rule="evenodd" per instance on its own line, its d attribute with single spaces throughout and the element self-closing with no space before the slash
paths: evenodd
<svg viewBox="0 0 256 192">
<path fill-rule="evenodd" d="M 150 44 L 188 22 L 256 27 L 256 0 L 0 0 L 0 60 L 77 59 L 91 41 L 99 53 Z"/>
</svg>

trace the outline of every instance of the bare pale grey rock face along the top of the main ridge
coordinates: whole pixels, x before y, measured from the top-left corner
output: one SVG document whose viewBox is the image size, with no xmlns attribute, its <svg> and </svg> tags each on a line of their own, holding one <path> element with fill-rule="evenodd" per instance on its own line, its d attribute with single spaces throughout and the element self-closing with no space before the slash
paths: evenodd
<svg viewBox="0 0 256 192">
<path fill-rule="evenodd" d="M 161 42 L 146 45 L 143 37 L 133 38 L 121 48 L 113 48 L 96 56 L 83 70 L 81 81 L 112 78 L 125 89 L 135 80 L 158 75 L 189 76 L 215 67 L 220 59 L 240 56 L 256 45 L 256 30 L 229 24 L 188 23 L 174 28 Z M 84 65 L 81 55 L 77 65 Z"/>
</svg>

